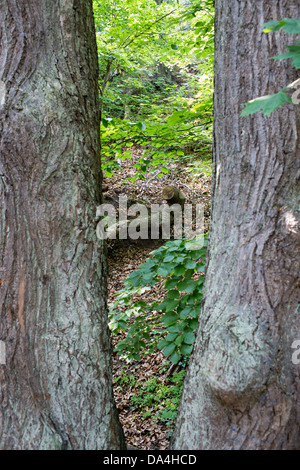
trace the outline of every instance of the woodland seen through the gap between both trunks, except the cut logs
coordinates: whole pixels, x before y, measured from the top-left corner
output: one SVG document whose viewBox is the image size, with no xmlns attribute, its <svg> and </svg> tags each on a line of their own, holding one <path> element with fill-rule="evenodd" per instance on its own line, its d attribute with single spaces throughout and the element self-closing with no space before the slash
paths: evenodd
<svg viewBox="0 0 300 470">
<path fill-rule="evenodd" d="M 204 205 L 207 232 L 213 1 L 95 0 L 93 6 L 104 202 L 115 204 L 120 194 L 129 205 L 162 202 L 166 185 L 174 185 L 186 201 Z M 195 339 L 205 241 L 107 245 L 120 419 L 128 444 L 163 449 Z"/>
</svg>

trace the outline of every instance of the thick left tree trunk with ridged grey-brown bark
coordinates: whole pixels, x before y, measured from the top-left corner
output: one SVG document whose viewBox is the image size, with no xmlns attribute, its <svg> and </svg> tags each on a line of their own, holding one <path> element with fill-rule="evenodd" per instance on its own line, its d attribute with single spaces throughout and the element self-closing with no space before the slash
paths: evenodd
<svg viewBox="0 0 300 470">
<path fill-rule="evenodd" d="M 92 2 L 2 1 L 0 40 L 0 448 L 122 448 Z"/>
</svg>

